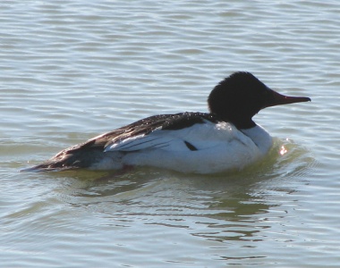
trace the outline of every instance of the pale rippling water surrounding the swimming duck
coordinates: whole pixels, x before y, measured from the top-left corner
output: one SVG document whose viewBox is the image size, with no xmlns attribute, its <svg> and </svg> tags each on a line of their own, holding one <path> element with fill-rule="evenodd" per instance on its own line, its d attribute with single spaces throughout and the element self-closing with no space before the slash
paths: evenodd
<svg viewBox="0 0 340 268">
<path fill-rule="evenodd" d="M 340 265 L 337 1 L 0 10 L 2 266 Z M 205 112 L 233 71 L 312 99 L 255 117 L 276 140 L 264 163 L 214 176 L 18 172 L 152 114 Z"/>
</svg>

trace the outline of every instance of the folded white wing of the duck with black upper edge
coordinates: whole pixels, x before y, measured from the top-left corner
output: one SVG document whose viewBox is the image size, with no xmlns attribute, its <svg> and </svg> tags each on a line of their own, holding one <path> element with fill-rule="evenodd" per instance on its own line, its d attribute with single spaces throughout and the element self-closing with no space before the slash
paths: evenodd
<svg viewBox="0 0 340 268">
<path fill-rule="evenodd" d="M 207 146 L 211 130 L 214 129 L 211 126 L 216 123 L 217 118 L 208 113 L 177 113 L 168 116 L 150 131 L 134 131 L 113 138 L 106 144 L 105 152 L 157 148 L 195 151 Z"/>
</svg>

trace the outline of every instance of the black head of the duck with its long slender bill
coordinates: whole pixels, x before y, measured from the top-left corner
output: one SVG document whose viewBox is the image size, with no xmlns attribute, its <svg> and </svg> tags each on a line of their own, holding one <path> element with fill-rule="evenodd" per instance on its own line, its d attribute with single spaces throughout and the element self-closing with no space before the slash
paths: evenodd
<svg viewBox="0 0 340 268">
<path fill-rule="evenodd" d="M 268 88 L 250 72 L 238 71 L 218 83 L 208 96 L 210 113 L 239 129 L 255 126 L 251 118 L 268 106 L 310 101 L 309 97 L 283 96 Z"/>
</svg>

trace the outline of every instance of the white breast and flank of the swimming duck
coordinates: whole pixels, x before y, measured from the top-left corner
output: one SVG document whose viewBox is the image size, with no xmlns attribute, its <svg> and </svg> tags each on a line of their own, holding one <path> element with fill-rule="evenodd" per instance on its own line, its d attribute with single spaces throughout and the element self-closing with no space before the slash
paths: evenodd
<svg viewBox="0 0 340 268">
<path fill-rule="evenodd" d="M 191 150 L 184 141 L 197 150 Z M 271 146 L 271 137 L 259 126 L 240 131 L 231 123 L 207 121 L 183 130 L 156 130 L 106 151 L 128 152 L 122 159 L 125 164 L 212 173 L 242 169 L 266 155 Z"/>
</svg>

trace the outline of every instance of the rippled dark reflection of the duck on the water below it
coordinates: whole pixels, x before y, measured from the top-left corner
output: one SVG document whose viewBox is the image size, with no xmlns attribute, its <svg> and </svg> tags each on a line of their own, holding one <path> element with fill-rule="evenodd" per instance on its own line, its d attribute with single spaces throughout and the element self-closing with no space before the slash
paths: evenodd
<svg viewBox="0 0 340 268">
<path fill-rule="evenodd" d="M 264 161 L 239 172 L 194 175 L 140 168 L 46 176 L 61 182 L 55 188 L 59 200 L 106 218 L 106 224 L 141 221 L 186 228 L 208 240 L 259 241 L 261 230 L 270 228 L 268 214 L 280 211 L 282 198 L 294 193 L 296 183 L 308 183 L 314 163 L 308 149 L 276 139 Z"/>
</svg>

